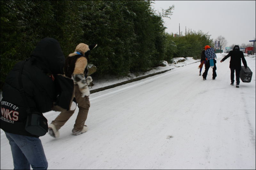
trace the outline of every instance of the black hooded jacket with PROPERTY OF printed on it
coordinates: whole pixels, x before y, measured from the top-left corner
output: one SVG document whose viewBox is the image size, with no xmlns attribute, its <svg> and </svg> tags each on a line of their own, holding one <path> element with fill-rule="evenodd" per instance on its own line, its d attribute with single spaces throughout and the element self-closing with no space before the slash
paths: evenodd
<svg viewBox="0 0 256 170">
<path fill-rule="evenodd" d="M 27 112 L 26 101 L 20 95 L 19 72 L 22 62 L 9 72 L 3 87 L 1 100 L 1 129 L 5 132 L 34 136 L 25 130 Z M 52 110 L 57 99 L 55 84 L 51 74 L 63 74 L 65 57 L 57 40 L 44 38 L 26 61 L 22 71 L 22 84 L 31 112 Z"/>
</svg>

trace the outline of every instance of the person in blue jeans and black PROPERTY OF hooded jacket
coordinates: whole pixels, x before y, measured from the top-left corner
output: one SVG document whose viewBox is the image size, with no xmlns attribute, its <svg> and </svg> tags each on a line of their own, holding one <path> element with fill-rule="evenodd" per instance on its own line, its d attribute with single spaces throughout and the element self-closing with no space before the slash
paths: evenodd
<svg viewBox="0 0 256 170">
<path fill-rule="evenodd" d="M 56 77 L 63 74 L 65 56 L 57 40 L 44 38 L 39 41 L 24 66 L 23 63 L 18 62 L 5 80 L 1 100 L 1 129 L 11 145 L 14 169 L 30 169 L 30 165 L 33 169 L 47 169 L 48 163 L 39 136 L 25 130 L 28 115 L 26 106 L 31 112 L 44 113 L 54 108 L 54 102 L 58 103 L 57 96 L 61 90 L 56 88 Z M 21 85 L 26 100 L 23 100 L 19 84 L 22 66 Z M 73 80 L 70 80 L 68 90 L 72 93 L 74 85 Z"/>
</svg>

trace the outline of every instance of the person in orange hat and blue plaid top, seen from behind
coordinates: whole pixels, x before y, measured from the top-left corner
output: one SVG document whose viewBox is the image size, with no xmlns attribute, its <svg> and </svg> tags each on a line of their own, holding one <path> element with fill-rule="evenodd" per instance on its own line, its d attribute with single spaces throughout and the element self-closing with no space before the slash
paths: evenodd
<svg viewBox="0 0 256 170">
<path fill-rule="evenodd" d="M 207 77 L 207 73 L 208 73 L 208 70 L 210 68 L 210 60 L 213 59 L 213 63 L 214 63 L 214 67 L 212 68 L 212 79 L 215 80 L 215 78 L 217 77 L 217 74 L 216 74 L 216 70 L 217 70 L 217 67 L 216 67 L 216 55 L 214 54 L 214 48 L 212 48 L 211 46 L 209 45 L 206 45 L 204 47 L 205 49 L 205 60 L 206 60 L 206 65 L 205 65 L 205 70 L 204 70 L 204 73 L 203 73 L 203 80 L 206 80 L 206 77 Z"/>
</svg>

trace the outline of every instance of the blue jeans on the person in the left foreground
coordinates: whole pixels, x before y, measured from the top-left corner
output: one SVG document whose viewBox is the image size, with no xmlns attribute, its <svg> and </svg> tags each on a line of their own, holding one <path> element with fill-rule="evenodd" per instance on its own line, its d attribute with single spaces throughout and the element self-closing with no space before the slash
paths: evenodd
<svg viewBox="0 0 256 170">
<path fill-rule="evenodd" d="M 47 169 L 48 162 L 38 137 L 29 137 L 5 132 L 12 150 L 14 169 Z"/>
</svg>

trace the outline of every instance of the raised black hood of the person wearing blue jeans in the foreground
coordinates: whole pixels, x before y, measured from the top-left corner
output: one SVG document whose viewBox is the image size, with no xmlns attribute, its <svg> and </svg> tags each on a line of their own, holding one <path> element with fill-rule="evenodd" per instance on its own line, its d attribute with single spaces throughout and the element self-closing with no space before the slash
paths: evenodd
<svg viewBox="0 0 256 170">
<path fill-rule="evenodd" d="M 38 42 L 31 54 L 42 63 L 45 70 L 52 74 L 63 74 L 65 56 L 60 48 L 60 43 L 53 38 L 44 38 Z M 32 57 L 33 58 L 33 57 Z"/>
</svg>

